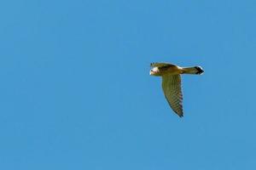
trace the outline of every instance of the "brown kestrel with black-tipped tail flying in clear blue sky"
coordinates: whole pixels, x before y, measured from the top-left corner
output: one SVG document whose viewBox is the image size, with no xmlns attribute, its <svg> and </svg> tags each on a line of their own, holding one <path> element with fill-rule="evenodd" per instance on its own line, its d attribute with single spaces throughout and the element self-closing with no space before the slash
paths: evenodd
<svg viewBox="0 0 256 170">
<path fill-rule="evenodd" d="M 181 74 L 201 75 L 201 66 L 180 67 L 171 63 L 151 63 L 151 76 L 162 77 L 162 88 L 172 110 L 178 116 L 183 116 L 183 93 L 181 88 Z"/>
</svg>

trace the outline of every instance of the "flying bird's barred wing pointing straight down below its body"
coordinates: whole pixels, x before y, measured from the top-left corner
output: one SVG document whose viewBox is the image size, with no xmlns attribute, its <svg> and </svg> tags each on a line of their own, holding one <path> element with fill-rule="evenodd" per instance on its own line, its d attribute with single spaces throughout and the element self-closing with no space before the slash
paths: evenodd
<svg viewBox="0 0 256 170">
<path fill-rule="evenodd" d="M 183 94 L 180 75 L 164 76 L 162 88 L 169 105 L 178 116 L 183 116 Z"/>
</svg>

